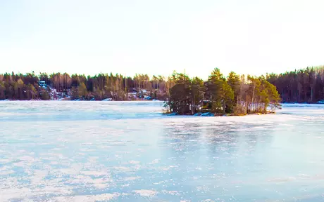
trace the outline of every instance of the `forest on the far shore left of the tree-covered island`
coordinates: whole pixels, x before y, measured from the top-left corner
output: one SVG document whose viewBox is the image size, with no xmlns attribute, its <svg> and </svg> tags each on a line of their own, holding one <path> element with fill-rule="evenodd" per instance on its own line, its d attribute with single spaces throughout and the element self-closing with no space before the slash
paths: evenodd
<svg viewBox="0 0 324 202">
<path fill-rule="evenodd" d="M 39 81 L 44 81 L 47 88 L 42 88 Z M 128 93 L 142 94 L 142 90 L 165 100 L 168 97 L 170 83 L 163 76 L 149 78 L 147 74 L 136 74 L 133 77 L 121 74 L 98 74 L 85 76 L 67 73 L 0 74 L 0 100 L 49 100 L 52 89 L 58 93 L 82 100 L 130 100 Z"/>
</svg>

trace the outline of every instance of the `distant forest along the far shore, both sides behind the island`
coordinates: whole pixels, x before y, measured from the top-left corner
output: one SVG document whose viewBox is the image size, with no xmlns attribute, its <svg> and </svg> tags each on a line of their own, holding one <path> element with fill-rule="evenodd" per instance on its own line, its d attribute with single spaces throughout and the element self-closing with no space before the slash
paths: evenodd
<svg viewBox="0 0 324 202">
<path fill-rule="evenodd" d="M 173 76 L 168 78 L 163 76 L 150 78 L 147 74 L 126 77 L 121 74 L 85 76 L 66 73 L 15 74 L 12 72 L 0 74 L 0 100 L 51 100 L 56 98 L 52 93 L 53 90 L 61 93 L 63 97 L 70 97 L 71 100 L 104 100 L 105 98 L 136 100 L 144 95 L 149 95 L 150 99 L 168 100 L 170 89 L 177 82 L 176 75 L 180 74 L 173 72 Z M 253 76 L 236 76 L 240 81 L 244 79 L 243 82 L 246 83 L 251 82 L 251 78 L 256 79 Z M 324 99 L 324 67 L 307 67 L 283 74 L 266 74 L 258 78 L 273 84 L 282 102 L 315 103 Z M 195 77 L 195 81 L 198 80 L 203 82 L 205 84 L 203 88 L 206 88 L 208 81 Z M 135 96 L 130 97 L 129 93 Z"/>
</svg>

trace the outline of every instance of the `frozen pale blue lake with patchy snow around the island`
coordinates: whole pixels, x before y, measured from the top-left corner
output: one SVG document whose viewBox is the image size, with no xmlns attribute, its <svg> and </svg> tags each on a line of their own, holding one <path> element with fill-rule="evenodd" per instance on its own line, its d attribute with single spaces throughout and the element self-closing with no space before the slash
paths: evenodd
<svg viewBox="0 0 324 202">
<path fill-rule="evenodd" d="M 0 201 L 324 201 L 324 105 L 0 102 Z"/>
</svg>

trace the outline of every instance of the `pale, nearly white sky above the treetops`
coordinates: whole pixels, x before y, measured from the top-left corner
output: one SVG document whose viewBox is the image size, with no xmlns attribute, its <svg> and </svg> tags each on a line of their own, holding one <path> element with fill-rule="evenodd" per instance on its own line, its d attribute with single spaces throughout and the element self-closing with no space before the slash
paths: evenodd
<svg viewBox="0 0 324 202">
<path fill-rule="evenodd" d="M 0 0 L 0 72 L 208 77 L 324 65 L 323 0 Z"/>
</svg>

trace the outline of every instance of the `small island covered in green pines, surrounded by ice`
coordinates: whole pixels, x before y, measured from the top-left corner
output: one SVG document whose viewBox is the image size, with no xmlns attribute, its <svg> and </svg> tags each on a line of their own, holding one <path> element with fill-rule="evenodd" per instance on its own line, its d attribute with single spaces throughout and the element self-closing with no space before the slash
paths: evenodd
<svg viewBox="0 0 324 202">
<path fill-rule="evenodd" d="M 208 81 L 174 72 L 175 85 L 165 102 L 167 114 L 195 116 L 244 116 L 273 114 L 280 108 L 280 95 L 264 76 L 239 76 L 230 72 L 227 79 L 215 68 Z"/>
</svg>

